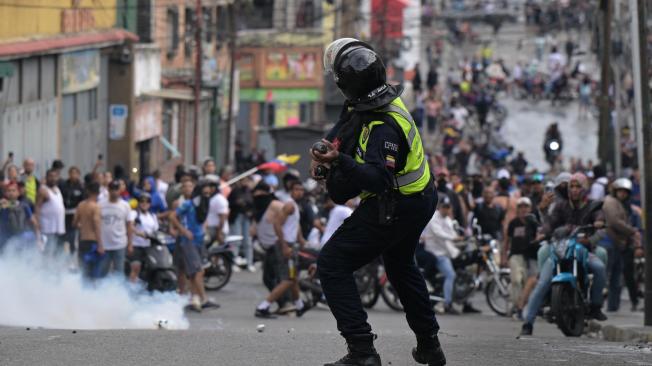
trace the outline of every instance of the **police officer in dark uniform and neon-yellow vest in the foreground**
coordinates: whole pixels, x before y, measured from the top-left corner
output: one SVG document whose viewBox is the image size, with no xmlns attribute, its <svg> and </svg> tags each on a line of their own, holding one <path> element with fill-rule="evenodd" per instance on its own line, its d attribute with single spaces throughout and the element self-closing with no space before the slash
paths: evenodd
<svg viewBox="0 0 652 366">
<path fill-rule="evenodd" d="M 335 203 L 355 196 L 362 199 L 324 245 L 317 264 L 328 305 L 349 350 L 326 366 L 381 364 L 353 278 L 355 270 L 381 255 L 416 334 L 414 359 L 444 365 L 439 325 L 414 260 L 437 194 L 419 132 L 400 98 L 402 88 L 387 84 L 379 55 L 353 38 L 331 43 L 324 67 L 333 73 L 347 101 L 338 123 L 322 140 L 326 148 L 311 150 L 311 171 L 326 180 Z"/>
</svg>

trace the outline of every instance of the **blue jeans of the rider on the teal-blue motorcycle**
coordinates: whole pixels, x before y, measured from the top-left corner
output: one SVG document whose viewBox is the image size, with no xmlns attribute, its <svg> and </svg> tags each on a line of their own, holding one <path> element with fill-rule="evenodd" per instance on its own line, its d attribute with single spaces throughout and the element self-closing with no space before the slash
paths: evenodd
<svg viewBox="0 0 652 366">
<path fill-rule="evenodd" d="M 543 300 L 548 294 L 548 291 L 550 291 L 554 270 L 555 268 L 550 259 L 547 259 L 543 264 L 543 267 L 540 268 L 537 286 L 534 288 L 530 300 L 528 301 L 527 314 L 525 316 L 526 323 L 534 324 L 537 312 L 539 311 L 541 304 L 543 304 Z M 593 273 L 593 283 L 591 284 L 591 305 L 601 307 L 603 303 L 602 290 L 604 290 L 607 275 L 604 263 L 593 254 L 589 254 L 589 272 Z"/>
</svg>

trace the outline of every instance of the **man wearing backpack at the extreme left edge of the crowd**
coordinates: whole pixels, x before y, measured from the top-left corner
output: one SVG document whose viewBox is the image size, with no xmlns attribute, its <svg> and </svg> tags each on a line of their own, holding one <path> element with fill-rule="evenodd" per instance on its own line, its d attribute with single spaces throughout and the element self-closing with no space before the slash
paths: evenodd
<svg viewBox="0 0 652 366">
<path fill-rule="evenodd" d="M 0 251 L 10 239 L 23 239 L 32 242 L 29 226 L 40 237 L 38 223 L 29 205 L 18 200 L 18 184 L 10 182 L 5 186 L 5 197 L 0 198 Z"/>
</svg>

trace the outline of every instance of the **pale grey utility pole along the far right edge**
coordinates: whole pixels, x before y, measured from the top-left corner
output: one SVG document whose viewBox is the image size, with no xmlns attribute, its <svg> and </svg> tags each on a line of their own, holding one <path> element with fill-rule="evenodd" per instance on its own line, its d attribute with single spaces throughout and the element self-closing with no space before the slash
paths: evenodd
<svg viewBox="0 0 652 366">
<path fill-rule="evenodd" d="M 640 185 L 645 218 L 645 325 L 652 326 L 652 169 L 641 166 L 652 161 L 652 124 L 650 121 L 650 96 L 647 60 L 646 0 L 630 0 L 632 9 L 632 59 L 634 63 L 634 96 L 639 149 L 639 169 L 642 169 Z M 642 141 L 641 141 L 642 140 Z M 642 154 L 640 153 L 642 151 Z M 648 183 L 648 184 L 646 184 Z"/>
</svg>

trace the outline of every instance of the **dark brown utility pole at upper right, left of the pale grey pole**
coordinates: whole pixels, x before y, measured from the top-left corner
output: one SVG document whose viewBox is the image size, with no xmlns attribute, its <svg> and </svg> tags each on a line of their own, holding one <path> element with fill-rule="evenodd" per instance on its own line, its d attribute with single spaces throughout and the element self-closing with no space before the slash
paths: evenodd
<svg viewBox="0 0 652 366">
<path fill-rule="evenodd" d="M 611 134 L 611 110 L 609 108 L 609 86 L 611 85 L 611 67 L 609 65 L 611 56 L 611 0 L 601 0 L 602 10 L 602 42 L 600 55 L 601 77 L 600 77 L 600 130 L 598 140 L 598 156 L 603 165 L 611 160 L 609 146 Z"/>
</svg>

